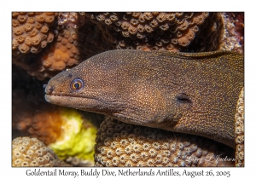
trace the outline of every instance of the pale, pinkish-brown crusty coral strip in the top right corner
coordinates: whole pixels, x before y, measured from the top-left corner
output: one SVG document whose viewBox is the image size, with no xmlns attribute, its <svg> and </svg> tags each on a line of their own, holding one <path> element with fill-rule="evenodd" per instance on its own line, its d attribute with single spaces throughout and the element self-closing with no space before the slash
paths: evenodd
<svg viewBox="0 0 256 179">
<path fill-rule="evenodd" d="M 222 13 L 224 38 L 220 49 L 244 52 L 244 13 Z"/>
</svg>

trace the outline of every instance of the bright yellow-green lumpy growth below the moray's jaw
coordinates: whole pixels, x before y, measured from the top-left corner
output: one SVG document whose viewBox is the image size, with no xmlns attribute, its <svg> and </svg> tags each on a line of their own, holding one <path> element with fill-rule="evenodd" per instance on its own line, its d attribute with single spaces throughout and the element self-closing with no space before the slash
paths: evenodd
<svg viewBox="0 0 256 179">
<path fill-rule="evenodd" d="M 64 121 L 61 126 L 63 130 L 61 137 L 51 143 L 49 147 L 60 159 L 72 156 L 94 162 L 96 127 L 73 109 L 61 112 L 61 118 Z"/>
</svg>

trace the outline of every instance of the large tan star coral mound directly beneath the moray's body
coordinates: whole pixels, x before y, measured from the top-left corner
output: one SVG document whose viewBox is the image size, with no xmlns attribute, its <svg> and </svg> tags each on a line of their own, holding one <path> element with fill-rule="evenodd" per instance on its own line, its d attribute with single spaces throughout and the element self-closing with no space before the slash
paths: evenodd
<svg viewBox="0 0 256 179">
<path fill-rule="evenodd" d="M 200 136 L 107 118 L 96 133 L 96 166 L 234 166 L 234 149 Z M 219 161 L 218 155 L 232 161 Z"/>
</svg>

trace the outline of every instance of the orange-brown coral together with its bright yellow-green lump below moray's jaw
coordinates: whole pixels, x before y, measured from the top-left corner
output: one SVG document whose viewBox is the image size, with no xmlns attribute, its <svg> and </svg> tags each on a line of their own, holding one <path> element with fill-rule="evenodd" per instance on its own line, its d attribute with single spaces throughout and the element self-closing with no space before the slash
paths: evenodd
<svg viewBox="0 0 256 179">
<path fill-rule="evenodd" d="M 43 106 L 37 113 L 14 114 L 17 130 L 44 141 L 60 159 L 68 156 L 93 159 L 96 127 L 76 110 Z"/>
</svg>

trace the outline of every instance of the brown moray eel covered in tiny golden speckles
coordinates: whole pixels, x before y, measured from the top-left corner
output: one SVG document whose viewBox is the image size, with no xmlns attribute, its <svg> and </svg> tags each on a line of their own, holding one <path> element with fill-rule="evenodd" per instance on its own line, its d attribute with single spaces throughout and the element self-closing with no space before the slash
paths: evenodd
<svg viewBox="0 0 256 179">
<path fill-rule="evenodd" d="M 129 124 L 235 143 L 243 55 L 111 50 L 57 74 L 50 103 L 102 113 Z"/>
</svg>

